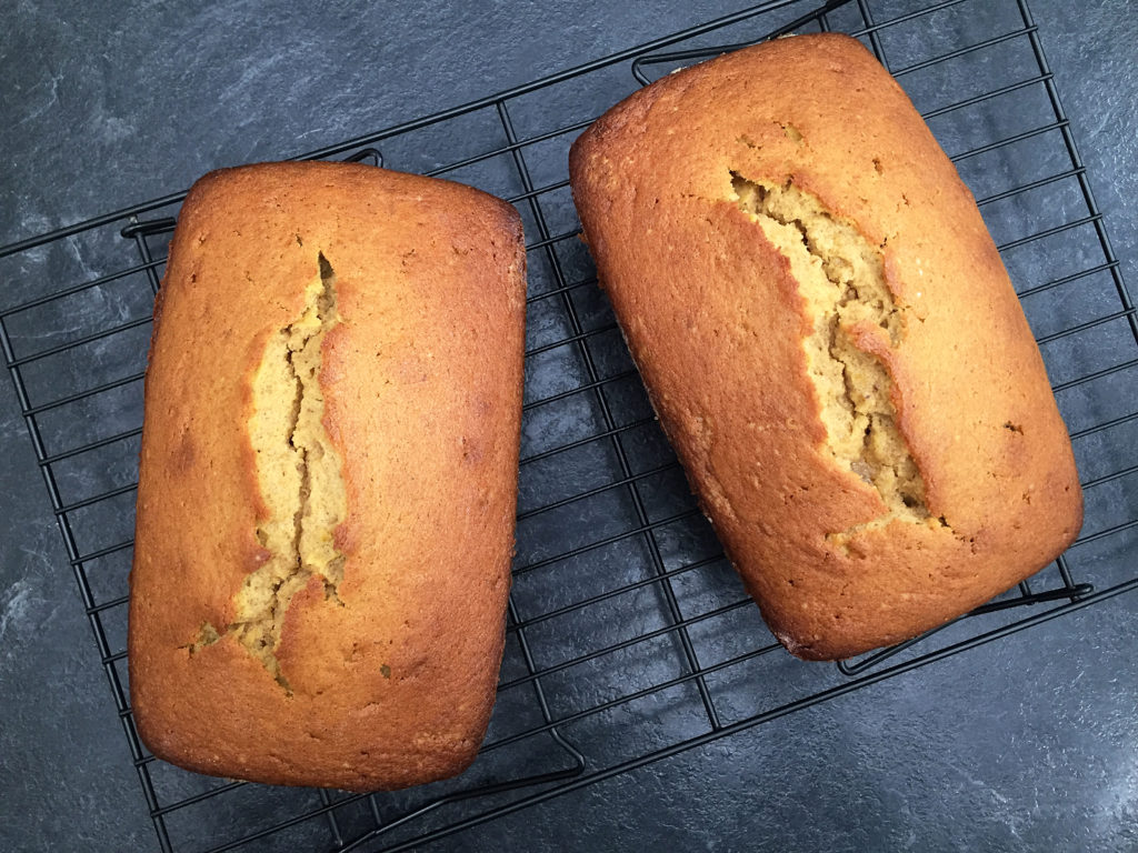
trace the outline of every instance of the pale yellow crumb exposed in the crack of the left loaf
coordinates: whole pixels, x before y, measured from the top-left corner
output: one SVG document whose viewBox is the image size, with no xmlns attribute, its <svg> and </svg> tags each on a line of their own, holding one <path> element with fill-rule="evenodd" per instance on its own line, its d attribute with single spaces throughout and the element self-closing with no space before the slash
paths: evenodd
<svg viewBox="0 0 1138 853">
<path fill-rule="evenodd" d="M 267 508 L 256 536 L 269 556 L 234 596 L 236 620 L 226 628 L 286 689 L 277 646 L 292 596 L 316 575 L 325 596 L 338 602 L 344 577 L 333 535 L 347 516 L 347 491 L 341 461 L 324 430 L 320 382 L 321 346 L 339 322 L 336 274 L 322 254 L 316 260 L 304 310 L 270 337 L 253 380 L 248 429 Z M 206 623 L 189 648 L 217 639 L 217 630 Z"/>
</svg>

